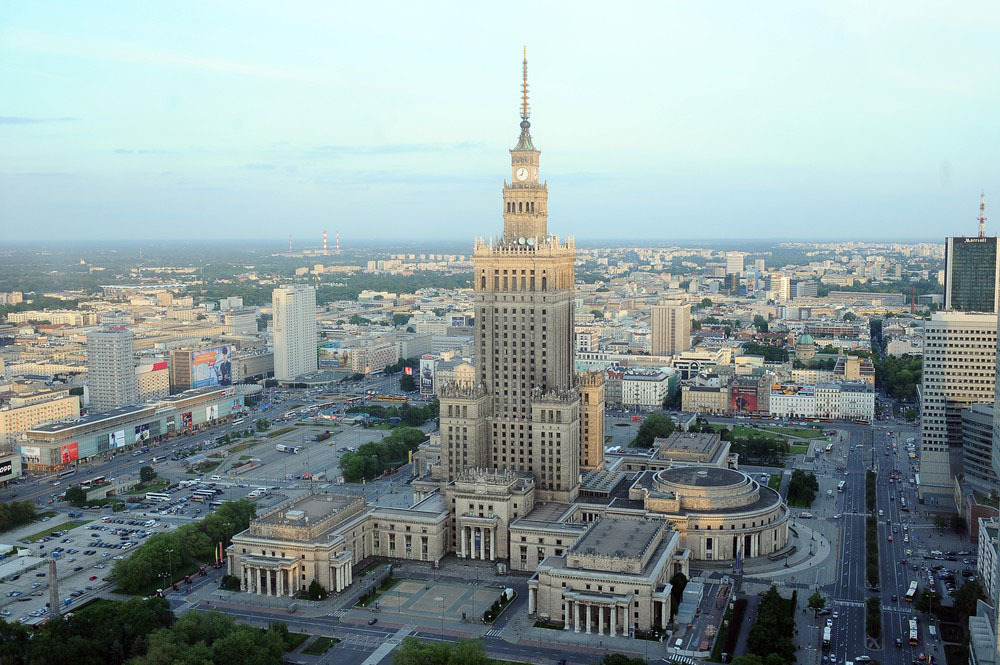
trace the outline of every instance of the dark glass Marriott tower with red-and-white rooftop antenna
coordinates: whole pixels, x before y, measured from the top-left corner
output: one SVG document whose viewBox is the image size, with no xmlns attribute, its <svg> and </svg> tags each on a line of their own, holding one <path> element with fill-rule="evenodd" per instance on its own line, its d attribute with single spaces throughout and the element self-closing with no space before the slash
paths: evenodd
<svg viewBox="0 0 1000 665">
<path fill-rule="evenodd" d="M 960 312 L 997 312 L 1000 253 L 986 235 L 986 201 L 979 203 L 979 235 L 945 240 L 944 307 Z"/>
</svg>

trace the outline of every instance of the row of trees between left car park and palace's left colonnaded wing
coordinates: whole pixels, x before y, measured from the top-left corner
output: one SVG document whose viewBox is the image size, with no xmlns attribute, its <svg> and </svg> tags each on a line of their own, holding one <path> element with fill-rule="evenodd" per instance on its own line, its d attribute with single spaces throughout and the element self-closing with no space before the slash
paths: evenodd
<svg viewBox="0 0 1000 665">
<path fill-rule="evenodd" d="M 251 501 L 227 501 L 204 519 L 150 536 L 127 558 L 115 563 L 108 579 L 124 593 L 149 593 L 163 573 L 213 562 L 218 544 L 225 547 L 233 535 L 249 527 L 255 516 Z"/>
</svg>

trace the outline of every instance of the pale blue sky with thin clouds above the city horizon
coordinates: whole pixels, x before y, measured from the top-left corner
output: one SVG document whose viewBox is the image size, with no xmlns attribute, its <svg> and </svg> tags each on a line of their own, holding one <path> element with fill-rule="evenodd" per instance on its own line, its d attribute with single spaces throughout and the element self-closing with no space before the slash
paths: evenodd
<svg viewBox="0 0 1000 665">
<path fill-rule="evenodd" d="M 0 241 L 502 228 L 522 48 L 549 230 L 1000 225 L 996 2 L 0 5 Z"/>
</svg>

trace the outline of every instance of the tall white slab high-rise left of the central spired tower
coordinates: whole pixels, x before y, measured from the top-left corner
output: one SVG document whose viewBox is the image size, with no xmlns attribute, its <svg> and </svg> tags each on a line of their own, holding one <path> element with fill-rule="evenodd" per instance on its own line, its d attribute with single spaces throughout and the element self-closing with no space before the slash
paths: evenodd
<svg viewBox="0 0 1000 665">
<path fill-rule="evenodd" d="M 271 293 L 274 309 L 274 378 L 294 379 L 318 368 L 316 289 L 292 284 Z"/>
</svg>

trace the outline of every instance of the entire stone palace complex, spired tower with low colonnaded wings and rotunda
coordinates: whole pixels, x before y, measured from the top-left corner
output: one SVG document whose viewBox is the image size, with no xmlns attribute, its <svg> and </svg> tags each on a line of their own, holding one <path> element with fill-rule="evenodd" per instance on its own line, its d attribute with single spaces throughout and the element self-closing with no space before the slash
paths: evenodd
<svg viewBox="0 0 1000 665">
<path fill-rule="evenodd" d="M 577 375 L 572 239 L 548 229 L 529 122 L 503 187 L 503 234 L 474 247 L 475 378 L 444 386 L 440 432 L 414 456 L 409 508 L 311 493 L 251 522 L 227 549 L 245 591 L 351 586 L 371 557 L 446 556 L 529 576 L 528 612 L 566 630 L 666 627 L 670 579 L 691 562 L 787 547 L 780 496 L 737 469 L 718 434 L 674 434 L 604 459 L 604 383 Z"/>
</svg>

